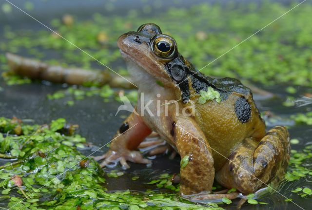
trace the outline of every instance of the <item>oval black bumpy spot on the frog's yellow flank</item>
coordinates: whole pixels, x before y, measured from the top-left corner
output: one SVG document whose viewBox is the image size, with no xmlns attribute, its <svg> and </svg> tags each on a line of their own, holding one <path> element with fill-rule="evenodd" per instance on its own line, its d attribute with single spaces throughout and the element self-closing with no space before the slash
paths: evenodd
<svg viewBox="0 0 312 210">
<path fill-rule="evenodd" d="M 237 98 L 235 102 L 235 113 L 239 121 L 242 123 L 246 123 L 249 121 L 252 108 L 250 103 L 246 100 L 244 96 L 240 96 Z"/>
</svg>

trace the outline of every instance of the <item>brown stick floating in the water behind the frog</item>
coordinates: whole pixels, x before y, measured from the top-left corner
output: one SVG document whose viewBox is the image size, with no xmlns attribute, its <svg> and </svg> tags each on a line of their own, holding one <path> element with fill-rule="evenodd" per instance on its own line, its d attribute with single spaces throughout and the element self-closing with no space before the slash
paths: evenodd
<svg viewBox="0 0 312 210">
<path fill-rule="evenodd" d="M 70 85 L 91 83 L 99 86 L 109 84 L 111 87 L 133 88 L 133 85 L 124 78 L 110 74 L 107 71 L 51 66 L 35 59 L 20 57 L 11 53 L 6 53 L 6 58 L 12 72 L 31 79 L 67 83 Z"/>
</svg>

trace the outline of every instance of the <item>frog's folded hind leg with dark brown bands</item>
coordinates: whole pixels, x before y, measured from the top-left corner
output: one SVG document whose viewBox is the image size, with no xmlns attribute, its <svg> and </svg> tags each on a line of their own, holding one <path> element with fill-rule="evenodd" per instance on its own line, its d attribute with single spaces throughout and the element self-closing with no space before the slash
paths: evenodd
<svg viewBox="0 0 312 210">
<path fill-rule="evenodd" d="M 260 141 L 245 139 L 216 172 L 215 179 L 224 187 L 252 193 L 268 183 L 283 179 L 290 158 L 289 134 L 276 126 Z"/>
</svg>

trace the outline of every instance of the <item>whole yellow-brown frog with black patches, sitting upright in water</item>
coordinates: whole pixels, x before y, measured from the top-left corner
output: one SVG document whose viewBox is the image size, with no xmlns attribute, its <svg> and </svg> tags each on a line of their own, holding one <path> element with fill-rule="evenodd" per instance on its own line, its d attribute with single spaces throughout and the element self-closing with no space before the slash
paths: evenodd
<svg viewBox="0 0 312 210">
<path fill-rule="evenodd" d="M 136 149 L 155 131 L 181 158 L 189 156 L 180 169 L 181 194 L 211 192 L 214 179 L 244 194 L 283 179 L 290 158 L 288 131 L 276 126 L 266 133 L 250 89 L 234 78 L 196 72 L 178 53 L 175 39 L 153 23 L 121 35 L 117 44 L 139 96 L 136 112 L 120 126 L 110 151 L 98 158 L 105 159 L 102 166 L 150 163 Z M 209 99 L 209 89 L 217 99 Z M 203 93 L 207 100 L 199 100 Z"/>
</svg>

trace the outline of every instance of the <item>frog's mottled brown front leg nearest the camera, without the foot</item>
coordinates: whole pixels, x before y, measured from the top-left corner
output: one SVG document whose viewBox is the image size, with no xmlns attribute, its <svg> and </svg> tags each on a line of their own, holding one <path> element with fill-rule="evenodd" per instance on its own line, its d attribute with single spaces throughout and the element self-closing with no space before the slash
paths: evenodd
<svg viewBox="0 0 312 210">
<path fill-rule="evenodd" d="M 205 134 L 192 117 L 176 116 L 173 132 L 177 152 L 181 158 L 189 156 L 181 167 L 180 193 L 195 194 L 212 191 L 215 177 L 214 159 Z"/>
</svg>

